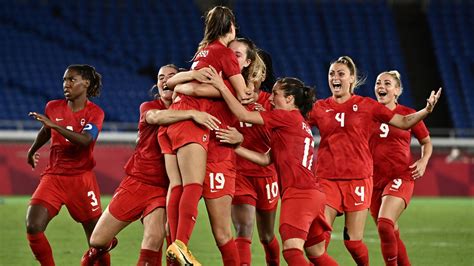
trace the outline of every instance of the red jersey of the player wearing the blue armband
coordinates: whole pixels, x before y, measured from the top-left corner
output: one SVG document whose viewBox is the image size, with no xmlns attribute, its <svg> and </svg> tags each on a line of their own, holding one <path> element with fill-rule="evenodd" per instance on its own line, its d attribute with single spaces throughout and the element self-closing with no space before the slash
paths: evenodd
<svg viewBox="0 0 474 266">
<path fill-rule="evenodd" d="M 91 101 L 86 102 L 84 109 L 73 112 L 67 100 L 53 100 L 46 104 L 46 116 L 56 124 L 71 131 L 102 130 L 104 111 Z M 94 135 L 93 135 L 94 136 Z M 51 130 L 51 147 L 49 163 L 42 175 L 79 175 L 92 170 L 95 160 L 92 156 L 97 137 L 87 147 L 71 143 L 56 130 Z"/>
</svg>

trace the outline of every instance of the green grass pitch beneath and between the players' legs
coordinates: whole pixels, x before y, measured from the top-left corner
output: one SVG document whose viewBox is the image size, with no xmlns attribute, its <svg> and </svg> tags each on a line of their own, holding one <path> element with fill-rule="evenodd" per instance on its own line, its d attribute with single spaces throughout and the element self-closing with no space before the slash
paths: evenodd
<svg viewBox="0 0 474 266">
<path fill-rule="evenodd" d="M 107 197 L 104 202 L 109 199 Z M 0 265 L 37 265 L 24 229 L 28 200 L 29 197 L 0 197 Z M 354 265 L 342 243 L 343 219 L 336 219 L 329 253 L 340 265 Z M 413 265 L 474 265 L 472 198 L 415 198 L 402 216 L 400 225 Z M 265 265 L 264 252 L 256 234 L 252 246 L 253 265 Z M 71 219 L 67 209 L 63 208 L 50 223 L 46 236 L 56 265 L 79 264 L 87 249 L 86 239 L 81 225 Z M 112 264 L 135 265 L 142 238 L 141 223 L 131 224 L 118 238 L 119 245 L 112 252 Z M 372 220 L 367 221 L 365 242 L 371 265 L 383 265 Z M 202 203 L 190 247 L 203 265 L 222 265 Z"/>
</svg>

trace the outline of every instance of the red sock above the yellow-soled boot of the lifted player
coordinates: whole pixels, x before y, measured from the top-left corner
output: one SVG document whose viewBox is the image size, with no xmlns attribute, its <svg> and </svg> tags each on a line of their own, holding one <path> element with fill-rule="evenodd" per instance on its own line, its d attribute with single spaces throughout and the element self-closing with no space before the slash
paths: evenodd
<svg viewBox="0 0 474 266">
<path fill-rule="evenodd" d="M 202 196 L 202 185 L 192 183 L 183 187 L 179 201 L 179 219 L 176 239 L 188 244 L 196 224 L 198 203 Z"/>
</svg>

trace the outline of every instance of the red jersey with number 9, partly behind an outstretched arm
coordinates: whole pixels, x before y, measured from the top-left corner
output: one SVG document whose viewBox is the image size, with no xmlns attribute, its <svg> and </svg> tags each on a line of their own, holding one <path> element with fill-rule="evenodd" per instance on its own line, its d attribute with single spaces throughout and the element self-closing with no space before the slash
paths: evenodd
<svg viewBox="0 0 474 266">
<path fill-rule="evenodd" d="M 408 115 L 416 111 L 403 105 L 397 105 L 394 113 Z M 394 178 L 411 180 L 409 168 L 411 134 L 418 141 L 429 136 L 423 121 L 409 130 L 399 129 L 388 124 L 376 123 L 374 134 L 370 138 L 370 149 L 374 158 L 374 187 L 382 188 Z"/>
</svg>

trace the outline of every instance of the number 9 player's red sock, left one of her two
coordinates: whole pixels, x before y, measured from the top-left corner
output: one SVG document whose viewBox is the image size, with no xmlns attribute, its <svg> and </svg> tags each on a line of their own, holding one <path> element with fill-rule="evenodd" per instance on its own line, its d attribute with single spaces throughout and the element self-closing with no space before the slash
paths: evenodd
<svg viewBox="0 0 474 266">
<path fill-rule="evenodd" d="M 385 265 L 396 266 L 398 244 L 393 221 L 387 218 L 378 218 L 377 229 L 379 231 L 380 246 L 382 247 Z"/>
</svg>

